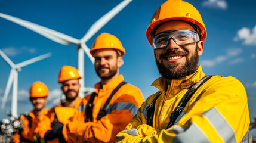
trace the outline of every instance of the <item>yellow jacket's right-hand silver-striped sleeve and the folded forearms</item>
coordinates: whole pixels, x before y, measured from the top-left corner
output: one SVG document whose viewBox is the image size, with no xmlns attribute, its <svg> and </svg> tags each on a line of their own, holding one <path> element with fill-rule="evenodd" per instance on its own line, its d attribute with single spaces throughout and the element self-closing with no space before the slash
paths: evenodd
<svg viewBox="0 0 256 143">
<path fill-rule="evenodd" d="M 140 125 L 118 133 L 116 142 L 248 142 L 250 120 L 242 83 L 229 77 L 207 87 L 190 99 L 177 125 L 162 130 Z"/>
</svg>

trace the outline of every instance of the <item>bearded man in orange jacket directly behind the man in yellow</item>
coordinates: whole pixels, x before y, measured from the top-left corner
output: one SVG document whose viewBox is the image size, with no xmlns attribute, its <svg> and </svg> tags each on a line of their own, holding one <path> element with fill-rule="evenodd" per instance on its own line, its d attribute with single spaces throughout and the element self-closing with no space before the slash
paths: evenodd
<svg viewBox="0 0 256 143">
<path fill-rule="evenodd" d="M 114 35 L 101 33 L 91 50 L 101 81 L 83 98 L 73 121 L 66 126 L 67 142 L 114 142 L 116 133 L 135 116 L 144 98 L 140 89 L 119 75 L 125 49 Z M 63 128 L 64 129 L 64 128 Z"/>
</svg>

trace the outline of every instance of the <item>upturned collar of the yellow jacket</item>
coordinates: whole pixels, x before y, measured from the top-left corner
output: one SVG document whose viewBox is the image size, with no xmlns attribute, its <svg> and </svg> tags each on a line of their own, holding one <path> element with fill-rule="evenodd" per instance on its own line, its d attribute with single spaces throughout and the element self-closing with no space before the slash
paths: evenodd
<svg viewBox="0 0 256 143">
<path fill-rule="evenodd" d="M 205 73 L 202 71 L 202 66 L 199 65 L 198 70 L 196 70 L 195 73 L 181 79 L 172 79 L 171 85 L 168 85 L 167 80 L 164 77 L 159 77 L 152 83 L 151 86 L 155 86 L 159 89 L 159 91 L 165 93 L 168 86 L 179 87 L 181 89 L 189 88 L 193 84 L 198 83 L 204 76 Z"/>
</svg>

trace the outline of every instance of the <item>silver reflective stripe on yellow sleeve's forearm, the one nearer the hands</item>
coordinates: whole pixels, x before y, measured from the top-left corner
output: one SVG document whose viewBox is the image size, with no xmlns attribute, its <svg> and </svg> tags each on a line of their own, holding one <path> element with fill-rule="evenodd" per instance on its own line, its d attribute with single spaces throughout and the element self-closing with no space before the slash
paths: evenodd
<svg viewBox="0 0 256 143">
<path fill-rule="evenodd" d="M 186 128 L 173 128 L 171 129 L 177 135 L 172 142 L 210 142 L 204 132 L 195 124 L 190 123 Z"/>
</svg>

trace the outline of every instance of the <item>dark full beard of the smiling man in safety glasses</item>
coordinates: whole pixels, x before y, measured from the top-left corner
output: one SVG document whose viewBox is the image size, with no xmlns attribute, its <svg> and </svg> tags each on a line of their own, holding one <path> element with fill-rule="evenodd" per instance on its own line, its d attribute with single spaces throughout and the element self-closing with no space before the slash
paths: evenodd
<svg viewBox="0 0 256 143">
<path fill-rule="evenodd" d="M 178 63 L 169 63 L 168 65 L 164 65 L 162 62 L 159 62 L 156 60 L 156 65 L 158 66 L 159 73 L 165 77 L 165 79 L 181 79 L 182 77 L 189 76 L 190 74 L 195 73 L 195 71 L 198 69 L 198 61 L 199 61 L 199 55 L 198 55 L 198 46 L 196 45 L 196 52 L 192 55 L 192 57 L 189 59 L 187 57 L 188 52 L 178 52 L 178 51 L 167 51 L 164 54 L 160 55 L 160 59 L 163 59 L 165 55 L 171 55 L 171 54 L 183 54 L 186 55 L 186 63 L 184 67 L 180 67 L 178 69 Z"/>
</svg>

